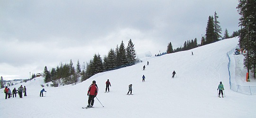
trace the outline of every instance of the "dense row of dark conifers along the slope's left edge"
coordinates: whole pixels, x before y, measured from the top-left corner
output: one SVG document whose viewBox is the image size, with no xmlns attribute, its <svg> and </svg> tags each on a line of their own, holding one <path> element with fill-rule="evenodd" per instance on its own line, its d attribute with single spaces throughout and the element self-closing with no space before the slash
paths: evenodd
<svg viewBox="0 0 256 118">
<path fill-rule="evenodd" d="M 52 68 L 50 71 L 45 67 L 44 77 L 45 83 L 53 82 L 51 86 L 59 86 L 59 84 L 76 84 L 90 78 L 91 76 L 104 71 L 114 70 L 121 67 L 127 67 L 139 62 L 136 59 L 136 52 L 134 44 L 131 39 L 128 41 L 128 46 L 125 47 L 123 41 L 120 46 L 117 45 L 116 49 L 110 49 L 107 56 L 104 56 L 103 60 L 100 54 L 94 54 L 93 59 L 89 62 L 83 63 L 83 69 L 81 68 L 79 60 L 76 64 L 76 69 L 73 66 L 72 59 L 69 63 L 60 63 L 59 66 Z"/>
</svg>

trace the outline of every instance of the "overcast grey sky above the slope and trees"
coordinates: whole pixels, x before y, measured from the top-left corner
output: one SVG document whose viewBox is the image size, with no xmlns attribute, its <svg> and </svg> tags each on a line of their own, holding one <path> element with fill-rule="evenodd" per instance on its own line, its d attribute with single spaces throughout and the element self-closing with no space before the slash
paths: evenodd
<svg viewBox="0 0 256 118">
<path fill-rule="evenodd" d="M 131 39 L 137 54 L 205 35 L 216 11 L 222 36 L 238 31 L 238 0 L 0 0 L 0 76 L 26 79 L 60 62 L 107 55 Z"/>
</svg>

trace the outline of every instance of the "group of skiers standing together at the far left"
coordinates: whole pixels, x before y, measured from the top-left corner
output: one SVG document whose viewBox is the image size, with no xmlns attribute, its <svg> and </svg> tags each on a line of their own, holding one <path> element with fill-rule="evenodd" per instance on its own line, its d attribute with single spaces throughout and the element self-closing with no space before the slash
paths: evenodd
<svg viewBox="0 0 256 118">
<path fill-rule="evenodd" d="M 4 93 L 5 93 L 5 99 L 7 98 L 11 98 L 11 96 L 14 98 L 14 96 L 16 97 L 16 94 L 18 92 L 19 98 L 22 98 L 22 92 L 24 93 L 24 96 L 27 96 L 27 88 L 26 86 L 20 85 L 20 87 L 18 87 L 18 90 L 16 88 L 14 88 L 11 92 L 10 88 L 8 88 L 8 86 L 5 87 L 4 89 Z"/>
</svg>

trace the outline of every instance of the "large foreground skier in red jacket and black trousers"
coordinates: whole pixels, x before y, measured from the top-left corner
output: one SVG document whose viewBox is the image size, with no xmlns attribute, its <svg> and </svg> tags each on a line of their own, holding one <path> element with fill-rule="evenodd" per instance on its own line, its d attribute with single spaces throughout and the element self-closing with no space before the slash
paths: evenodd
<svg viewBox="0 0 256 118">
<path fill-rule="evenodd" d="M 96 84 L 96 81 L 93 80 L 87 92 L 87 95 L 89 96 L 87 108 L 91 108 L 93 106 L 94 98 L 96 97 L 97 94 L 98 94 L 98 86 Z"/>
</svg>

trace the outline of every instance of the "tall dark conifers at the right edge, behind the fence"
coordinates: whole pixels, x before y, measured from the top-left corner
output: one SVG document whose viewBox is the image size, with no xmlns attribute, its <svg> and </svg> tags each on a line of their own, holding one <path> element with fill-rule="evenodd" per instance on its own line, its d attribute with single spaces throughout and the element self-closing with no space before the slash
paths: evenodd
<svg viewBox="0 0 256 118">
<path fill-rule="evenodd" d="M 239 46 L 247 50 L 244 65 L 256 75 L 256 0 L 239 0 Z"/>
</svg>

